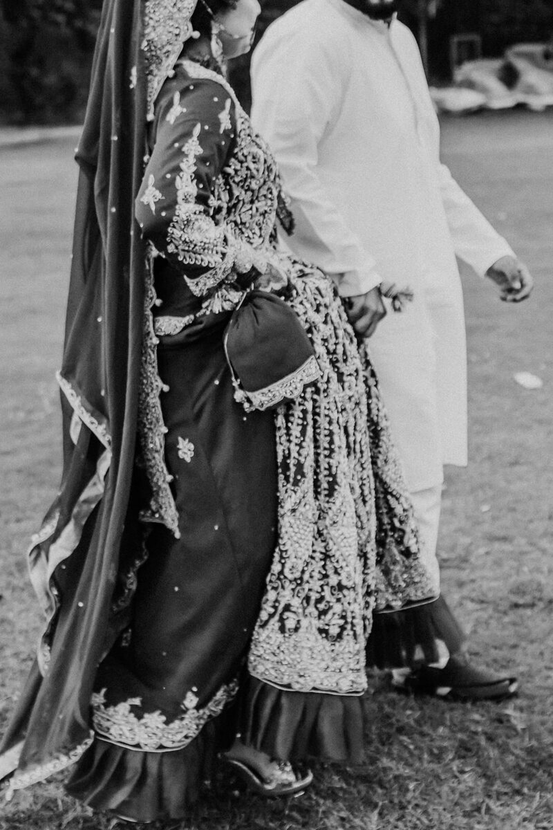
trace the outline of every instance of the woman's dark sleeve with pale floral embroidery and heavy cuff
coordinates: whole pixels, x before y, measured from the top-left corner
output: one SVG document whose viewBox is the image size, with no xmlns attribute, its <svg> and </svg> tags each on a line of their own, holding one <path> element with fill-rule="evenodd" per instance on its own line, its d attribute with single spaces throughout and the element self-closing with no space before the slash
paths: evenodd
<svg viewBox="0 0 553 830">
<path fill-rule="evenodd" d="M 224 209 L 216 181 L 236 134 L 230 95 L 211 80 L 168 84 L 158 103 L 154 134 L 136 199 L 143 237 L 182 271 L 196 296 L 252 269 L 263 273 L 264 257 L 220 218 Z"/>
</svg>

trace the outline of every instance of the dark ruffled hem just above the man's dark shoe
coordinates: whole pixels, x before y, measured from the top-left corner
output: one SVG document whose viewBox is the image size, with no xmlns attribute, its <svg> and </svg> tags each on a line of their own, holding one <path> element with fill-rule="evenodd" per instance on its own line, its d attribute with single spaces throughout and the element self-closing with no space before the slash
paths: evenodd
<svg viewBox="0 0 553 830">
<path fill-rule="evenodd" d="M 366 645 L 366 664 L 414 668 L 456 654 L 465 635 L 443 597 L 393 613 L 376 613 Z"/>
</svg>

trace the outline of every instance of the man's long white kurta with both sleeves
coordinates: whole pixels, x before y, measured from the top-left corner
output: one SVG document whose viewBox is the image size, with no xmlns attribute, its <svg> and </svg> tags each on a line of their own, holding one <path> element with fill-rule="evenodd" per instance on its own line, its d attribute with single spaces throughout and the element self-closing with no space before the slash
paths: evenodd
<svg viewBox="0 0 553 830">
<path fill-rule="evenodd" d="M 279 162 L 296 232 L 286 243 L 357 295 L 379 281 L 415 300 L 370 340 L 411 490 L 467 462 L 466 347 L 455 254 L 483 275 L 511 248 L 439 163 L 420 53 L 398 21 L 303 0 L 252 61 L 256 129 Z"/>
</svg>

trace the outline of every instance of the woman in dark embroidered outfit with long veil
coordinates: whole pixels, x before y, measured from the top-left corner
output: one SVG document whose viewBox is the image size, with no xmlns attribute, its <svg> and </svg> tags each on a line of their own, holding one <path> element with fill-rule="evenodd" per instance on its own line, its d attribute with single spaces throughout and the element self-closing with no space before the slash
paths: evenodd
<svg viewBox="0 0 553 830">
<path fill-rule="evenodd" d="M 360 760 L 372 613 L 437 593 L 370 363 L 327 279 L 272 245 L 291 219 L 219 51 L 259 5 L 209 2 L 104 2 L 64 471 L 30 553 L 47 625 L 0 756 L 8 794 L 76 763 L 70 793 L 135 821 L 181 818 L 220 749 L 264 794 L 310 782 L 290 760 Z M 226 362 L 251 286 L 313 348 L 275 410 L 235 400 Z"/>
</svg>

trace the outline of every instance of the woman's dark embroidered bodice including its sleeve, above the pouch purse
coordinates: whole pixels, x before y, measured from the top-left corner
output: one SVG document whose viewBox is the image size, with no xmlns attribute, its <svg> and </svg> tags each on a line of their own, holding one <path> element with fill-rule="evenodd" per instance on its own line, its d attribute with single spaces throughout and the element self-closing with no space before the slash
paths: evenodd
<svg viewBox="0 0 553 830">
<path fill-rule="evenodd" d="M 279 174 L 225 79 L 180 61 L 163 86 L 136 201 L 157 266 L 160 334 L 174 318 L 226 310 L 271 256 Z M 196 300 L 195 300 L 196 298 Z M 168 327 L 168 330 L 167 330 Z"/>
</svg>

